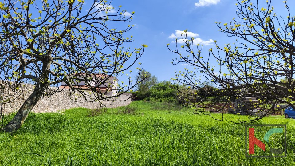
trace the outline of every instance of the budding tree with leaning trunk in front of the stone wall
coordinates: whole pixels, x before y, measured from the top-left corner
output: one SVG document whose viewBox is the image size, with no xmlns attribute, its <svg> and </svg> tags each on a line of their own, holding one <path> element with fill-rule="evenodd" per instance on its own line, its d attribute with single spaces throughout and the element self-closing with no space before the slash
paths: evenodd
<svg viewBox="0 0 295 166">
<path fill-rule="evenodd" d="M 90 2 L 88 2 L 90 3 Z M 21 127 L 26 117 L 41 99 L 63 89 L 52 88 L 64 82 L 88 101 L 113 100 L 138 84 L 130 80 L 130 67 L 142 55 L 144 47 L 125 48 L 132 42 L 126 36 L 132 26 L 132 14 L 118 10 L 103 0 L 94 0 L 85 8 L 83 0 L 4 0 L 0 2 L 0 71 L 13 91 L 32 82 L 33 93 L 24 102 L 14 118 L 3 128 L 13 132 Z M 118 25 L 126 27 L 118 29 Z M 123 67 L 124 66 L 124 67 Z M 137 73 L 140 73 L 140 65 Z M 99 85 L 127 74 L 129 83 L 117 85 L 115 96 L 96 91 L 89 83 Z M 100 77 L 97 76 L 100 74 Z M 86 87 L 75 86 L 84 81 Z M 107 84 L 107 88 L 110 85 Z M 92 91 L 92 97 L 85 90 Z M 94 97 L 93 97 L 94 95 Z"/>
</svg>

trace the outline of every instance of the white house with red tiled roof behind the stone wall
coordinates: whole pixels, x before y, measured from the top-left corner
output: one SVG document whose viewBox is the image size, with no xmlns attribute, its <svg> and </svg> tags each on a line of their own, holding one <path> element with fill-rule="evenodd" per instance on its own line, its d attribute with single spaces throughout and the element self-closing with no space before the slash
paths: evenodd
<svg viewBox="0 0 295 166">
<path fill-rule="evenodd" d="M 96 87 L 96 91 L 100 93 L 107 92 L 109 96 L 115 96 L 118 93 L 118 79 L 113 76 L 108 76 L 105 74 L 95 74 L 96 78 L 93 77 L 92 81 L 85 84 L 85 81 L 74 80 L 73 86 L 82 89 L 89 89 Z M 79 77 L 77 77 L 79 79 Z M 106 80 L 108 78 L 108 80 Z M 84 79 L 83 79 L 84 80 Z M 102 83 L 103 82 L 103 83 Z M 65 82 L 61 82 L 60 88 L 69 89 L 69 86 Z"/>
</svg>

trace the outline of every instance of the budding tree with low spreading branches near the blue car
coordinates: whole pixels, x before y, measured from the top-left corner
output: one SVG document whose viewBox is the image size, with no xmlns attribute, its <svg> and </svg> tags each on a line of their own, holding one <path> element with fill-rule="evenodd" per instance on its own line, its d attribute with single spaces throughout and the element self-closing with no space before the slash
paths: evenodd
<svg viewBox="0 0 295 166">
<path fill-rule="evenodd" d="M 237 1 L 237 17 L 230 23 L 216 24 L 221 32 L 238 40 L 225 47 L 214 41 L 216 49 L 209 49 L 208 55 L 202 54 L 202 45 L 195 46 L 194 38 L 187 38 L 186 31 L 180 39 L 185 42 L 182 49 L 179 45 L 176 50 L 168 46 L 180 56 L 174 59 L 174 64 L 184 62 L 195 67 L 194 71 L 186 69 L 183 73 L 176 73 L 173 79 L 186 85 L 187 88 L 180 92 L 185 94 L 184 101 L 195 108 L 195 113 L 224 113 L 229 103 L 234 104 L 234 109 L 266 110 L 263 114 L 249 116 L 247 120 L 239 120 L 252 122 L 273 113 L 279 107 L 278 103 L 295 108 L 292 102 L 295 100 L 295 18 L 286 1 L 283 3 L 286 15 L 280 17 L 274 12 L 271 0 Z M 188 93 L 191 92 L 189 89 L 204 91 L 203 79 L 214 83 L 218 89 L 206 91 L 207 96 Z M 245 97 L 256 97 L 257 100 L 249 99 L 248 103 L 240 104 Z M 221 98 L 221 107 L 207 112 L 207 108 L 220 105 Z M 206 102 L 210 104 L 205 105 Z M 222 114 L 219 120 L 223 119 Z"/>
</svg>

